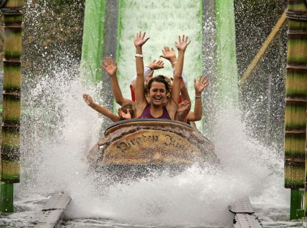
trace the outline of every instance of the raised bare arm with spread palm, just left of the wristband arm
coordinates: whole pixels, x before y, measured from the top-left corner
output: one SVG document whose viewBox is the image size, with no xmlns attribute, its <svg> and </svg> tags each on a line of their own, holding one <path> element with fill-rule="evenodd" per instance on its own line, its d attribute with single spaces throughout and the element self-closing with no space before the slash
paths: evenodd
<svg viewBox="0 0 307 228">
<path fill-rule="evenodd" d="M 111 57 L 107 57 L 103 60 L 101 63 L 101 68 L 105 70 L 105 72 L 111 77 L 111 86 L 112 86 L 112 92 L 115 98 L 116 103 L 119 105 L 127 104 L 127 103 L 134 103 L 130 99 L 124 98 L 121 92 L 121 89 L 118 84 L 117 80 L 117 63 L 116 61 L 113 62 L 113 59 Z"/>
</svg>

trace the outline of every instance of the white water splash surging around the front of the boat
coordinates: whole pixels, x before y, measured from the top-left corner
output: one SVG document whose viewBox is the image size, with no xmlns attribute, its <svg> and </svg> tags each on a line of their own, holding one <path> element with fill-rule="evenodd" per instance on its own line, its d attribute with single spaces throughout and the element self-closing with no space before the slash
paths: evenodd
<svg viewBox="0 0 307 228">
<path fill-rule="evenodd" d="M 65 191 L 72 197 L 69 218 L 146 225 L 230 225 L 228 205 L 246 195 L 256 203 L 287 205 L 287 192 L 280 190 L 280 152 L 250 138 L 239 111 L 230 108 L 216 116 L 215 150 L 222 170 L 193 166 L 173 177 L 163 173 L 101 188 L 83 161 L 103 122 L 82 94 L 95 96 L 99 85 L 81 80 L 77 67 L 55 69 L 28 91 L 24 104 L 31 111 L 22 118 L 24 168 L 18 194 Z"/>
</svg>

